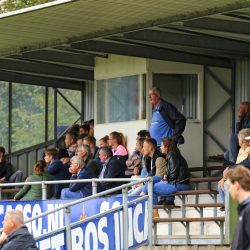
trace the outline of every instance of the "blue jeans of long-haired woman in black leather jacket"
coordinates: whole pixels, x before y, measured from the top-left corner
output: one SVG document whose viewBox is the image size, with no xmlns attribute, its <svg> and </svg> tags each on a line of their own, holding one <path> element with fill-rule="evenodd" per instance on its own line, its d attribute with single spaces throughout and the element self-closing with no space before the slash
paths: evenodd
<svg viewBox="0 0 250 250">
<path fill-rule="evenodd" d="M 161 181 L 162 177 L 154 176 L 153 177 L 153 205 L 158 205 L 158 198 L 157 195 L 170 195 L 177 191 L 185 191 L 188 190 L 188 184 L 168 184 L 167 181 Z M 145 184 L 143 193 L 148 193 L 148 183 Z M 167 197 L 167 200 L 174 200 L 174 196 Z"/>
</svg>

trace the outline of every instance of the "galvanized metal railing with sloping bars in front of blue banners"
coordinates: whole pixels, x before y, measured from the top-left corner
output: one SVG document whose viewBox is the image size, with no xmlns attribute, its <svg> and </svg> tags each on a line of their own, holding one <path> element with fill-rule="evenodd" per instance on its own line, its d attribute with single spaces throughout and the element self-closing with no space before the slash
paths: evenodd
<svg viewBox="0 0 250 250">
<path fill-rule="evenodd" d="M 42 185 L 42 189 L 43 189 L 43 191 L 42 191 L 43 200 L 46 200 L 47 185 L 49 185 L 49 184 L 62 184 L 62 183 L 76 183 L 76 182 L 92 182 L 92 195 L 88 196 L 86 198 L 79 199 L 77 201 L 73 201 L 71 203 L 67 203 L 63 206 L 60 206 L 58 208 L 55 208 L 53 210 L 47 211 L 45 213 L 42 213 L 38 216 L 35 216 L 33 218 L 26 220 L 24 222 L 25 224 L 28 222 L 37 220 L 39 218 L 42 218 L 44 216 L 47 216 L 49 214 L 55 213 L 61 209 L 66 210 L 65 227 L 62 227 L 58 230 L 41 235 L 41 236 L 35 238 L 35 240 L 38 240 L 42 237 L 47 237 L 47 236 L 55 234 L 57 232 L 66 230 L 66 249 L 71 250 L 71 227 L 76 226 L 76 225 L 81 224 L 81 223 L 84 223 L 86 221 L 89 221 L 91 219 L 98 218 L 102 215 L 111 213 L 111 212 L 119 210 L 119 209 L 123 209 L 123 221 L 128 221 L 128 206 L 133 204 L 133 203 L 136 203 L 138 201 L 148 199 L 148 241 L 147 241 L 147 245 L 148 245 L 148 249 L 152 250 L 152 243 L 153 243 L 153 241 L 152 241 L 153 178 L 152 177 L 141 178 L 141 179 L 127 179 L 127 178 L 124 178 L 124 179 L 85 179 L 85 180 L 68 180 L 68 181 L 22 182 L 22 183 L 10 183 L 10 184 L 6 183 L 6 184 L 0 184 L 0 189 L 2 189 L 2 187 L 5 187 L 5 186 L 26 186 L 26 185 L 39 185 L 40 184 L 40 185 Z M 97 182 L 132 182 L 132 183 L 123 184 L 123 185 L 118 186 L 116 188 L 112 188 L 110 190 L 97 193 Z M 140 184 L 143 182 L 148 182 L 148 195 L 145 195 L 141 198 L 138 198 L 136 200 L 128 202 L 128 188 L 133 186 L 133 185 Z M 91 200 L 93 198 L 98 198 L 100 196 L 107 195 L 107 194 L 110 194 L 110 193 L 113 193 L 113 192 L 119 191 L 119 190 L 122 190 L 123 205 L 118 206 L 118 207 L 113 208 L 113 209 L 110 209 L 104 213 L 100 213 L 100 214 L 91 216 L 91 217 L 84 219 L 82 221 L 70 224 L 70 207 L 71 206 L 74 206 L 74 205 L 77 205 L 77 204 L 82 203 L 84 201 L 88 201 L 88 200 Z M 127 227 L 127 224 L 123 223 L 123 249 L 124 250 L 129 249 L 129 246 L 128 246 L 128 242 L 129 242 L 128 241 L 128 228 L 126 228 L 126 227 Z"/>
</svg>

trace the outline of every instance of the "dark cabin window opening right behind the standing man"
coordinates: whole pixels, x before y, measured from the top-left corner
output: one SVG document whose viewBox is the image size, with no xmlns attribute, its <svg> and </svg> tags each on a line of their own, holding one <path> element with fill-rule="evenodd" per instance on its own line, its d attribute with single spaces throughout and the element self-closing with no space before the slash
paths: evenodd
<svg viewBox="0 0 250 250">
<path fill-rule="evenodd" d="M 187 119 L 197 119 L 198 75 L 154 74 L 153 86 L 160 88 L 162 98 Z"/>
</svg>

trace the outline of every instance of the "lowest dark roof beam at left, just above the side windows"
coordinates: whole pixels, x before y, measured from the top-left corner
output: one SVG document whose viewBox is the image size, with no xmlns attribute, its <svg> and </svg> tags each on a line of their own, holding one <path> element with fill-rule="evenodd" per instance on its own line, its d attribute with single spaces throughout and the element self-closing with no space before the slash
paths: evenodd
<svg viewBox="0 0 250 250">
<path fill-rule="evenodd" d="M 16 82 L 16 83 L 44 86 L 44 87 L 80 90 L 80 84 L 77 83 L 57 81 L 53 79 L 40 78 L 20 73 L 6 72 L 2 70 L 0 70 L 0 79 L 1 81 L 6 81 L 6 82 Z"/>
</svg>

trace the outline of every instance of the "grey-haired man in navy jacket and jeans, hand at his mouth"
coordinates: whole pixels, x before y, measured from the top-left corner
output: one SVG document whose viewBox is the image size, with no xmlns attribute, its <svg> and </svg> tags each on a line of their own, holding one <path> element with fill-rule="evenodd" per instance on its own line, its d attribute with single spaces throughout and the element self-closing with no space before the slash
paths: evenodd
<svg viewBox="0 0 250 250">
<path fill-rule="evenodd" d="M 82 157 L 74 156 L 71 158 L 69 172 L 72 174 L 70 180 L 92 179 L 97 176 L 85 167 L 85 162 Z M 97 190 L 100 191 L 98 183 Z M 64 188 L 61 192 L 61 199 L 81 199 L 92 195 L 91 182 L 70 183 L 69 188 Z"/>
</svg>

